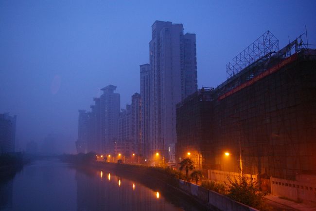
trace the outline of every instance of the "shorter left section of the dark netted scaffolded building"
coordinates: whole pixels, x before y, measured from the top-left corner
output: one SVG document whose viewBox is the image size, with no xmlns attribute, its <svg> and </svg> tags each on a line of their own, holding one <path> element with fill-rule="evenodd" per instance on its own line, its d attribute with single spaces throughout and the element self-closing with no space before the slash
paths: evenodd
<svg viewBox="0 0 316 211">
<path fill-rule="evenodd" d="M 202 88 L 177 104 L 177 163 L 190 157 L 194 161 L 195 169 L 201 170 L 203 160 L 212 158 L 210 140 L 213 134 L 213 92 L 213 88 Z"/>
</svg>

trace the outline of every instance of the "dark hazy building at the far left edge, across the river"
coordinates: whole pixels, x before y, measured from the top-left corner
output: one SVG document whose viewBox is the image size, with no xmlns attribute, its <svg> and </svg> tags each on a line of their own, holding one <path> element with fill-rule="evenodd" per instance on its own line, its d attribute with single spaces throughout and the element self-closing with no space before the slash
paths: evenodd
<svg viewBox="0 0 316 211">
<path fill-rule="evenodd" d="M 15 151 L 17 116 L 0 114 L 0 153 Z"/>
</svg>

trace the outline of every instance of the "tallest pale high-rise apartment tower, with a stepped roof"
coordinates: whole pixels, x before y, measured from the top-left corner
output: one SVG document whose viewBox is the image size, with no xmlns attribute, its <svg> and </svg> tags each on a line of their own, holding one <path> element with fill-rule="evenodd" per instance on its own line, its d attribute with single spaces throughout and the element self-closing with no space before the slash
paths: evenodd
<svg viewBox="0 0 316 211">
<path fill-rule="evenodd" d="M 182 24 L 155 21 L 149 46 L 150 150 L 168 157 L 176 143 L 176 104 L 197 90 L 195 35 L 184 35 Z"/>
</svg>

